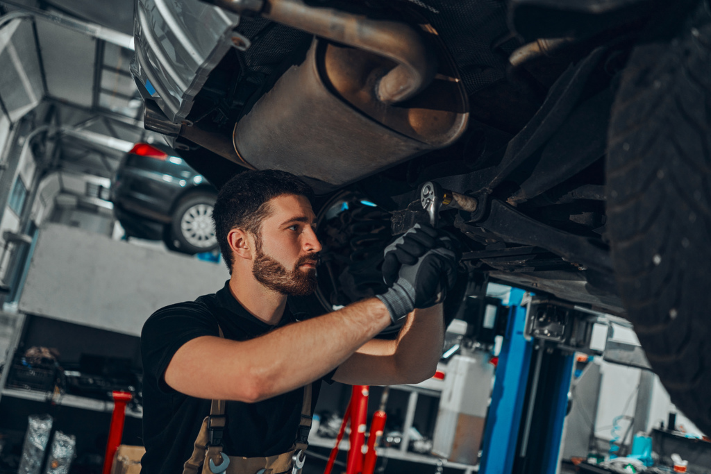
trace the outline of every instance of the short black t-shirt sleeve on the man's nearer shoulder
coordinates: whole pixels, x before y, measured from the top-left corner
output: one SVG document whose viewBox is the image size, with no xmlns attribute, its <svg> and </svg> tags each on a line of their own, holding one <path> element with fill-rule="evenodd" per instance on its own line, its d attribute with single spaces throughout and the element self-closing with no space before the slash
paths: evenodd
<svg viewBox="0 0 711 474">
<path fill-rule="evenodd" d="M 198 303 L 179 303 L 156 311 L 141 331 L 144 384 L 163 394 L 174 392 L 163 379 L 166 368 L 183 344 L 204 335 L 220 334 L 215 318 Z"/>
</svg>

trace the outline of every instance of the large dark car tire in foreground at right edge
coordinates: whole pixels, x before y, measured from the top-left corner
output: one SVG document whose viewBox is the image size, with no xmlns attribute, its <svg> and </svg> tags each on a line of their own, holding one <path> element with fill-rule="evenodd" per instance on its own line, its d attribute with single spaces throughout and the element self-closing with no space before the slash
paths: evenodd
<svg viewBox="0 0 711 474">
<path fill-rule="evenodd" d="M 629 320 L 672 402 L 711 434 L 711 14 L 637 45 L 608 131 L 607 235 Z"/>
</svg>

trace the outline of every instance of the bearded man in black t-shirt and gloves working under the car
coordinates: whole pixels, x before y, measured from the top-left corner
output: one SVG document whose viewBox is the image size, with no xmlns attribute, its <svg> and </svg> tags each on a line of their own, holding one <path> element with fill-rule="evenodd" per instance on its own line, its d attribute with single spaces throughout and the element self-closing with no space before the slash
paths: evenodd
<svg viewBox="0 0 711 474">
<path fill-rule="evenodd" d="M 241 173 L 220 189 L 213 221 L 230 279 L 156 311 L 141 333 L 143 474 L 292 472 L 322 381 L 434 375 L 444 339 L 434 301 L 456 278 L 451 238 L 416 226 L 385 249 L 386 293 L 304 318 L 287 303 L 316 289 L 313 200 L 282 171 Z M 394 323 L 395 340 L 374 339 Z"/>
</svg>

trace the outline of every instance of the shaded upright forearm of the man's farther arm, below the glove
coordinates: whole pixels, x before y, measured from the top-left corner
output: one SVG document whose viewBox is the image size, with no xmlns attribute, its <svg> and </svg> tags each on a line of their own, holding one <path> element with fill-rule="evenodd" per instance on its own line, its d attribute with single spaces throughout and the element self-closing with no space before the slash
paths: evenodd
<svg viewBox="0 0 711 474">
<path fill-rule="evenodd" d="M 444 345 L 442 305 L 416 309 L 400 331 L 395 348 L 395 365 L 402 383 L 429 379 L 437 370 Z"/>
</svg>

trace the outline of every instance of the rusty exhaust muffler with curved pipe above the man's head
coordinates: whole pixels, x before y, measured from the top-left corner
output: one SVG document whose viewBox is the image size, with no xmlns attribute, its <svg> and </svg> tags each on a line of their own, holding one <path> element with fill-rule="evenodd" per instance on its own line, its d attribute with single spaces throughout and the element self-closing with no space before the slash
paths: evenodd
<svg viewBox="0 0 711 474">
<path fill-rule="evenodd" d="M 280 169 L 326 193 L 461 136 L 469 103 L 427 23 L 368 18 L 302 0 L 209 0 L 316 36 L 237 124 L 243 166 Z"/>
</svg>

